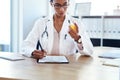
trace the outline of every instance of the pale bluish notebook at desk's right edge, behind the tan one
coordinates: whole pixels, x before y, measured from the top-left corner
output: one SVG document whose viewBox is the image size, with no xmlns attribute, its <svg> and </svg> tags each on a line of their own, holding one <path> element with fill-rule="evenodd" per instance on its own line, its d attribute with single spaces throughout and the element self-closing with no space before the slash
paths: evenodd
<svg viewBox="0 0 120 80">
<path fill-rule="evenodd" d="M 120 58 L 120 50 L 111 50 L 105 53 L 98 55 L 99 58 L 109 58 L 109 59 L 116 59 Z"/>
</svg>

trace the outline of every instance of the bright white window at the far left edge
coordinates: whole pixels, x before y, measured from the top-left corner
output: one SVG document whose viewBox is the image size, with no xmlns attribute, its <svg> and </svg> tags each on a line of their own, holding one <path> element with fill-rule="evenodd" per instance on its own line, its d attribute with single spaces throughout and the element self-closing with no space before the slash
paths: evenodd
<svg viewBox="0 0 120 80">
<path fill-rule="evenodd" d="M 0 0 L 0 51 L 10 46 L 10 0 Z"/>
</svg>

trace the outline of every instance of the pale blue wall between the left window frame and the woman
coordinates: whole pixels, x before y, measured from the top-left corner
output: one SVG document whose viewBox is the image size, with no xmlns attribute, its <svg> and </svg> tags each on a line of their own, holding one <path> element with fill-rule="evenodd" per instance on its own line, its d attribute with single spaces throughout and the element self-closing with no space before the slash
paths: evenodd
<svg viewBox="0 0 120 80">
<path fill-rule="evenodd" d="M 49 0 L 23 0 L 23 39 L 36 19 L 48 15 L 48 4 Z"/>
</svg>

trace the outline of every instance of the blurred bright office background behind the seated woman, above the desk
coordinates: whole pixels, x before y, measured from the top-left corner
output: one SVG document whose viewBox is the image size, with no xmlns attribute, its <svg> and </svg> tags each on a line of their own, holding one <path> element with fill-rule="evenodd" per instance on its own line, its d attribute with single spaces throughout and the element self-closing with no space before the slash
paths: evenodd
<svg viewBox="0 0 120 80">
<path fill-rule="evenodd" d="M 0 0 L 0 51 L 19 52 L 36 19 L 52 14 L 49 0 Z M 120 47 L 120 0 L 70 0 L 94 46 Z"/>
</svg>

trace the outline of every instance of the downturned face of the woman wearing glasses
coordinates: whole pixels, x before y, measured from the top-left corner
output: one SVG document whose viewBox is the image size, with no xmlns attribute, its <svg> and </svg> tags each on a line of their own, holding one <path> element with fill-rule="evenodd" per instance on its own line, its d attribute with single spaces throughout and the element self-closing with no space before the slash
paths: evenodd
<svg viewBox="0 0 120 80">
<path fill-rule="evenodd" d="M 68 0 L 53 0 L 51 3 L 55 10 L 55 14 L 59 17 L 63 17 L 66 14 L 69 1 Z"/>
</svg>

